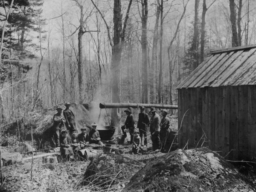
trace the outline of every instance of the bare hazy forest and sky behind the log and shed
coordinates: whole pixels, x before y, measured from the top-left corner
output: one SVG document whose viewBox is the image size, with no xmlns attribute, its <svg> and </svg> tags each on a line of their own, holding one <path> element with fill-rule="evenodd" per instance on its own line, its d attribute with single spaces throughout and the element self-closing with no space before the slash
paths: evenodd
<svg viewBox="0 0 256 192">
<path fill-rule="evenodd" d="M 254 0 L 1 0 L 1 127 L 64 102 L 177 105 L 175 87 L 207 52 L 255 44 L 255 8 Z M 115 124 L 118 111 L 111 116 Z"/>
</svg>

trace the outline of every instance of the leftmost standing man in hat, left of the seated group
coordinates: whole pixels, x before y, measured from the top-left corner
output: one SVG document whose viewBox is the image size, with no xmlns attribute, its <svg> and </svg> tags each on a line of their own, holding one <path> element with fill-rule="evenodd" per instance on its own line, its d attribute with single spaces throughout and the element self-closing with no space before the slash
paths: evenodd
<svg viewBox="0 0 256 192">
<path fill-rule="evenodd" d="M 64 116 L 62 114 L 62 108 L 61 106 L 57 107 L 57 113 L 53 115 L 53 138 L 55 140 L 55 147 L 60 146 L 60 131 L 63 129 L 64 122 L 66 121 L 64 119 Z"/>
</svg>

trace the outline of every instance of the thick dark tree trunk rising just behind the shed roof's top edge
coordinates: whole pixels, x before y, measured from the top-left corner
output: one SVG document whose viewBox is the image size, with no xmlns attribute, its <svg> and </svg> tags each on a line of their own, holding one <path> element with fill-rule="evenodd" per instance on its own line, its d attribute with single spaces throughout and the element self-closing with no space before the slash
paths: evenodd
<svg viewBox="0 0 256 192">
<path fill-rule="evenodd" d="M 230 21 L 232 27 L 232 47 L 238 47 L 238 34 L 236 28 L 236 4 L 235 0 L 230 0 Z"/>
</svg>

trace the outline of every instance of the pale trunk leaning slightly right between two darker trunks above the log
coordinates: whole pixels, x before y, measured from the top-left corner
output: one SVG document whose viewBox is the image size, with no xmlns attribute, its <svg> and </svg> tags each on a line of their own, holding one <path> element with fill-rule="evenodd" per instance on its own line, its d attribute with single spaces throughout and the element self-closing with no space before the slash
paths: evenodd
<svg viewBox="0 0 256 192">
<path fill-rule="evenodd" d="M 160 17 L 160 3 L 159 0 L 157 0 L 157 13 L 156 13 L 156 23 L 154 26 L 154 36 L 153 36 L 153 47 L 152 47 L 152 58 L 151 58 L 151 67 L 150 67 L 150 103 L 154 103 L 155 101 L 155 66 L 157 64 L 157 41 L 158 41 L 158 23 L 159 23 L 159 17 Z"/>
</svg>

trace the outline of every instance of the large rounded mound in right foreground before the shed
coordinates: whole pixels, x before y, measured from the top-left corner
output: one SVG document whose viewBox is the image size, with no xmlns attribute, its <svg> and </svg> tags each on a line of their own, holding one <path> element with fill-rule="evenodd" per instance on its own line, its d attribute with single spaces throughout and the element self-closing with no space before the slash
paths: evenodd
<svg viewBox="0 0 256 192">
<path fill-rule="evenodd" d="M 176 150 L 149 162 L 125 186 L 131 191 L 254 191 L 224 158 L 207 148 Z"/>
</svg>

